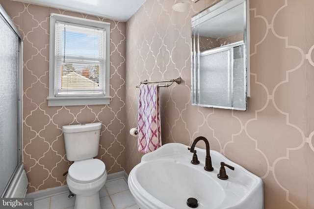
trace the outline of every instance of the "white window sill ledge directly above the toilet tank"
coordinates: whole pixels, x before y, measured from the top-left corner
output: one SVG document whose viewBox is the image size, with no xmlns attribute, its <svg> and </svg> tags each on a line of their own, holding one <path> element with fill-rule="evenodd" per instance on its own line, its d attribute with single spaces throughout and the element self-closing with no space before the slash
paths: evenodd
<svg viewBox="0 0 314 209">
<path fill-rule="evenodd" d="M 109 104 L 111 97 L 47 97 L 48 106 Z"/>
</svg>

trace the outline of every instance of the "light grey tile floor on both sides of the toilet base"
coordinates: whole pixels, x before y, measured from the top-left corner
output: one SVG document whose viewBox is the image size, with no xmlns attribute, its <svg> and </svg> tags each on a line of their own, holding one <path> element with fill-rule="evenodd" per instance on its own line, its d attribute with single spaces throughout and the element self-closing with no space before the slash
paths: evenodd
<svg viewBox="0 0 314 209">
<path fill-rule="evenodd" d="M 34 209 L 74 209 L 69 192 L 34 201 Z M 107 181 L 99 192 L 103 209 L 139 209 L 124 178 Z"/>
</svg>

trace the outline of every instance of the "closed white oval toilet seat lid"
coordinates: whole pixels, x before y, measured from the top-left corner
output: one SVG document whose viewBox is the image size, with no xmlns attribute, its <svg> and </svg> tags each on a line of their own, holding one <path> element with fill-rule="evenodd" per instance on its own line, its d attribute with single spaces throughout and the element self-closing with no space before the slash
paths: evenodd
<svg viewBox="0 0 314 209">
<path fill-rule="evenodd" d="M 78 183 L 90 183 L 100 179 L 105 173 L 105 163 L 100 159 L 86 159 L 74 162 L 68 176 Z"/>
</svg>

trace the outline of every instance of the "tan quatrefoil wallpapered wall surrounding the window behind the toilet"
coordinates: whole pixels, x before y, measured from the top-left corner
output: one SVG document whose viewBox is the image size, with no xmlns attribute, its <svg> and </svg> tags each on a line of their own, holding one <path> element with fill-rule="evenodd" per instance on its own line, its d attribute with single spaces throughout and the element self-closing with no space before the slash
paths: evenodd
<svg viewBox="0 0 314 209">
<path fill-rule="evenodd" d="M 28 192 L 64 185 L 69 162 L 65 156 L 63 125 L 102 122 L 100 151 L 107 172 L 124 170 L 125 163 L 125 23 L 99 17 L 0 0 L 23 36 L 23 143 Z M 50 13 L 109 22 L 109 105 L 48 107 Z"/>
</svg>

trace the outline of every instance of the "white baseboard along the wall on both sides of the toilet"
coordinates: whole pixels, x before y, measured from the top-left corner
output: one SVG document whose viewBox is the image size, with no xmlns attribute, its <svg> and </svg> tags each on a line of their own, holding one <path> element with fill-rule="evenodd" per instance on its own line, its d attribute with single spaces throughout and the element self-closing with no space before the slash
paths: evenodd
<svg viewBox="0 0 314 209">
<path fill-rule="evenodd" d="M 129 175 L 125 171 L 120 171 L 113 174 L 108 174 L 106 182 L 117 180 L 117 179 L 125 179 L 128 182 Z M 34 200 L 45 199 L 54 195 L 62 194 L 69 192 L 68 185 L 57 186 L 45 190 L 40 190 L 36 192 L 31 192 L 26 195 L 27 198 L 34 198 Z"/>
</svg>

